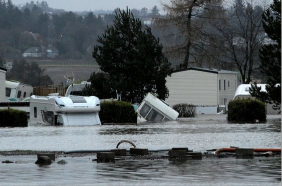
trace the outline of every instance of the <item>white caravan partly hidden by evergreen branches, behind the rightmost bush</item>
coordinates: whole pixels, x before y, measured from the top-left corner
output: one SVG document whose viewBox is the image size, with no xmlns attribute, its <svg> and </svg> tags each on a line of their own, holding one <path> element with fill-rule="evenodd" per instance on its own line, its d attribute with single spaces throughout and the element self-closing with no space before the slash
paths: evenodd
<svg viewBox="0 0 282 186">
<path fill-rule="evenodd" d="M 266 89 L 265 89 L 265 85 L 266 84 L 256 84 L 257 87 L 261 87 L 261 91 L 265 91 L 266 92 Z M 251 87 L 251 84 L 240 84 L 236 91 L 235 91 L 235 95 L 233 97 L 233 100 L 234 99 L 243 99 L 243 98 L 254 98 L 251 96 L 251 94 L 249 93 L 249 88 Z M 273 104 L 269 104 L 267 103 L 266 104 L 266 112 L 267 114 L 278 114 L 279 110 L 274 110 L 272 108 Z"/>
</svg>

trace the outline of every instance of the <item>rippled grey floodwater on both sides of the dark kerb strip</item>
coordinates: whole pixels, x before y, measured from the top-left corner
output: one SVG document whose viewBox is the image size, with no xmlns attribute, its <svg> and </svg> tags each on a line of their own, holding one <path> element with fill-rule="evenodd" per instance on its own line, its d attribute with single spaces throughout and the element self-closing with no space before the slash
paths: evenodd
<svg viewBox="0 0 282 186">
<path fill-rule="evenodd" d="M 280 148 L 280 115 L 265 123 L 228 123 L 226 115 L 198 115 L 162 123 L 101 126 L 0 128 L 0 150 L 115 148 L 130 140 L 140 148 L 188 147 L 194 151 L 237 146 Z M 120 147 L 129 148 L 122 143 Z M 92 161 L 95 156 L 59 157 L 68 163 L 39 166 L 35 155 L 1 156 L 0 185 L 281 185 L 281 158 Z"/>
</svg>

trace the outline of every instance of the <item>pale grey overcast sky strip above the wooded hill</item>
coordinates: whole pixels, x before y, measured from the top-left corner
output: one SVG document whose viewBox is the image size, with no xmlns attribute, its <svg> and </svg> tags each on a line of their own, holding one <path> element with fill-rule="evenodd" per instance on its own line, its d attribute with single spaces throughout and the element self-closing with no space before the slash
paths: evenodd
<svg viewBox="0 0 282 186">
<path fill-rule="evenodd" d="M 43 1 L 43 0 L 34 0 Z M 146 7 L 149 10 L 152 9 L 154 5 L 157 5 L 161 9 L 161 1 L 168 2 L 169 0 L 45 0 L 47 1 L 49 7 L 65 9 L 67 11 L 90 11 L 96 9 L 104 10 L 114 10 L 116 7 L 125 9 L 141 9 Z M 12 0 L 13 4 L 25 4 L 31 2 L 31 0 Z"/>
</svg>

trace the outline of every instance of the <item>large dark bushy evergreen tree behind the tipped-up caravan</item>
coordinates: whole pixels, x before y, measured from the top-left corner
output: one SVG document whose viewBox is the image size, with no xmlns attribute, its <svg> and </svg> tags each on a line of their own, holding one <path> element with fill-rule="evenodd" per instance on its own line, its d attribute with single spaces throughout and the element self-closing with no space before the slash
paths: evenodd
<svg viewBox="0 0 282 186">
<path fill-rule="evenodd" d="M 140 102 L 147 92 L 168 95 L 165 77 L 170 74 L 170 62 L 162 53 L 159 39 L 135 19 L 130 10 L 116 12 L 114 24 L 97 40 L 93 57 L 101 69 L 109 73 L 112 90 L 122 99 Z"/>
</svg>

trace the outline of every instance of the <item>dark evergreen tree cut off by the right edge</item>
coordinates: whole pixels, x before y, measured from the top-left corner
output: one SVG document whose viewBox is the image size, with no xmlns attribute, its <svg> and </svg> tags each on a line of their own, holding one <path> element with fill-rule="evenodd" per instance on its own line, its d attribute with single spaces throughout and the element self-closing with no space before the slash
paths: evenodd
<svg viewBox="0 0 282 186">
<path fill-rule="evenodd" d="M 281 105 L 281 0 L 273 0 L 263 15 L 263 28 L 275 42 L 265 44 L 259 50 L 261 71 L 267 75 L 266 91 L 256 84 L 250 88 L 250 94 L 265 102 L 274 103 L 274 109 Z"/>
</svg>

